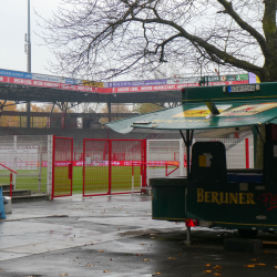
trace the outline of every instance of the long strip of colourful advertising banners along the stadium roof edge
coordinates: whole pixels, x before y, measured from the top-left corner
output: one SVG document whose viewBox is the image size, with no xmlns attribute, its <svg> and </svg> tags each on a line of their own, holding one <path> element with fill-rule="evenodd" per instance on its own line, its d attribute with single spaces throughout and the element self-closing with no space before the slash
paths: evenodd
<svg viewBox="0 0 277 277">
<path fill-rule="evenodd" d="M 256 76 L 254 75 L 254 78 L 250 74 L 249 76 L 250 81 L 254 82 L 253 80 Z M 8 70 L 0 70 L 0 82 L 69 91 L 82 91 L 89 93 L 179 91 L 183 88 L 199 85 L 198 78 L 101 83 Z M 245 83 L 248 83 L 248 74 L 208 76 L 208 85 L 232 85 Z"/>
</svg>

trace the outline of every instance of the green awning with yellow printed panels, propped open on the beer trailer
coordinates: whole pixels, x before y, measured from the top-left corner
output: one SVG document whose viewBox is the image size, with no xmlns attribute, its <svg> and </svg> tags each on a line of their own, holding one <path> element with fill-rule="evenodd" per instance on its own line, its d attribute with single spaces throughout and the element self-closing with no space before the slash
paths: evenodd
<svg viewBox="0 0 277 277">
<path fill-rule="evenodd" d="M 277 102 L 215 103 L 219 114 L 212 114 L 211 106 L 183 104 L 177 107 L 152 112 L 106 123 L 115 132 L 125 134 L 135 129 L 152 130 L 208 130 L 277 123 Z M 215 109 L 215 110 L 216 110 Z"/>
</svg>

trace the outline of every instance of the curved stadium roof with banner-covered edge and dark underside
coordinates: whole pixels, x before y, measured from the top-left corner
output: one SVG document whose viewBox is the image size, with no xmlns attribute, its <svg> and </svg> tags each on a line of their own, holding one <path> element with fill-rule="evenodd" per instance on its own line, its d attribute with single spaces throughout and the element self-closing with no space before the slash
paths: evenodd
<svg viewBox="0 0 277 277">
<path fill-rule="evenodd" d="M 34 102 L 164 103 L 181 102 L 181 89 L 199 78 L 92 82 L 0 69 L 0 99 Z M 211 76 L 209 84 L 248 83 L 248 74 Z"/>
</svg>

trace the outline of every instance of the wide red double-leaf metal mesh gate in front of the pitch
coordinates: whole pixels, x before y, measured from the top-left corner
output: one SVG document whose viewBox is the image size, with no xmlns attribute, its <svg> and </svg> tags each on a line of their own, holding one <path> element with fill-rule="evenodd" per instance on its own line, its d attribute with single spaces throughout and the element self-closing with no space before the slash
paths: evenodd
<svg viewBox="0 0 277 277">
<path fill-rule="evenodd" d="M 144 140 L 83 141 L 83 197 L 126 194 L 146 185 Z"/>
</svg>

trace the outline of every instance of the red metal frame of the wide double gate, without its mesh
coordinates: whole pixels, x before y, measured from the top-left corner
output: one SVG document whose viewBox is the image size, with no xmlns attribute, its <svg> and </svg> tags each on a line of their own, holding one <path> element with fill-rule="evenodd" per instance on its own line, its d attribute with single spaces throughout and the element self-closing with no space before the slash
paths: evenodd
<svg viewBox="0 0 277 277">
<path fill-rule="evenodd" d="M 89 194 L 85 195 L 85 150 L 86 150 L 86 142 L 92 141 L 92 142 L 106 142 L 104 146 L 104 154 L 106 154 L 106 150 L 109 147 L 109 191 L 107 193 L 101 193 L 101 194 Z M 146 140 L 112 140 L 112 138 L 84 138 L 83 140 L 83 197 L 90 197 L 90 196 L 101 196 L 101 195 L 111 195 L 111 194 L 130 194 L 132 192 L 112 192 L 112 143 L 113 142 L 141 142 L 141 175 L 142 177 L 142 186 L 146 186 Z M 109 145 L 109 146 L 107 146 Z M 105 157 L 104 157 L 105 158 Z"/>
</svg>

